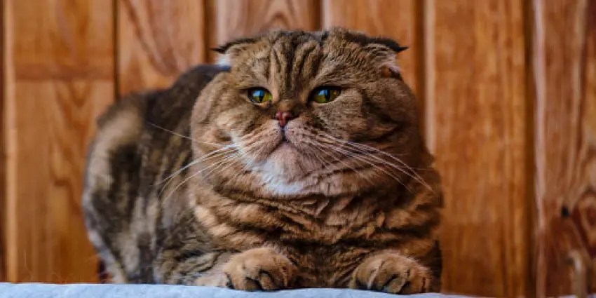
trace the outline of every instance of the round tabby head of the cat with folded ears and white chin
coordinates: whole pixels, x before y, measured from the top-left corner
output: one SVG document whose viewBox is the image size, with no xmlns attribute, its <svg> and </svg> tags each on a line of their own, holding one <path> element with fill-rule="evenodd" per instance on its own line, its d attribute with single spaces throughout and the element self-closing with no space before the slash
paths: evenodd
<svg viewBox="0 0 596 298">
<path fill-rule="evenodd" d="M 219 50 L 230 72 L 205 88 L 191 124 L 195 157 L 212 153 L 201 162 L 208 179 L 263 195 L 338 195 L 398 183 L 417 162 L 416 100 L 393 41 L 271 32 Z"/>
</svg>

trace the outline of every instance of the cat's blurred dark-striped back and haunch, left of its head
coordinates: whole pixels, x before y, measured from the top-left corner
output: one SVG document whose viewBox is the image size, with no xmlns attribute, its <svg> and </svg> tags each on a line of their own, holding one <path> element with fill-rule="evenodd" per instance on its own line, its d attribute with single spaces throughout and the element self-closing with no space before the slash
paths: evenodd
<svg viewBox="0 0 596 298">
<path fill-rule="evenodd" d="M 90 241 L 121 282 L 151 282 L 142 264 L 154 250 L 160 177 L 191 156 L 189 119 L 221 67 L 200 65 L 170 87 L 131 93 L 98 119 L 87 158 L 83 208 Z M 163 184 L 162 184 L 163 185 Z M 114 266 L 119 267 L 118 269 Z M 116 270 L 114 270 L 116 269 Z M 148 269 L 149 270 L 149 269 Z M 137 272 L 134 276 L 129 273 Z"/>
</svg>

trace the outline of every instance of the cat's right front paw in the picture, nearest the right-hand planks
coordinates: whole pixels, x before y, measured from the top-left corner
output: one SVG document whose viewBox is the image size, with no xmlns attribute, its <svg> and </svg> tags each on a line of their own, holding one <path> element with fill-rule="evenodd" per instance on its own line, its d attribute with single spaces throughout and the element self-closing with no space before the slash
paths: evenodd
<svg viewBox="0 0 596 298">
<path fill-rule="evenodd" d="M 368 257 L 352 275 L 350 287 L 390 294 L 428 292 L 431 271 L 414 259 L 397 253 L 380 253 Z"/>
</svg>

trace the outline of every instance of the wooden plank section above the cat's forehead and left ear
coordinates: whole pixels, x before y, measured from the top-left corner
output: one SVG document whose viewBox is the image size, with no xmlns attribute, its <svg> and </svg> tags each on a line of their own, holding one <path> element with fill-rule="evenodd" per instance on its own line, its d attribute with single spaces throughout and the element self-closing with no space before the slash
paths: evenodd
<svg viewBox="0 0 596 298">
<path fill-rule="evenodd" d="M 271 29 L 307 29 L 319 27 L 320 3 L 317 0 L 212 0 L 211 28 L 215 36 L 210 47 L 239 37 Z M 216 59 L 215 54 L 210 60 Z"/>
</svg>

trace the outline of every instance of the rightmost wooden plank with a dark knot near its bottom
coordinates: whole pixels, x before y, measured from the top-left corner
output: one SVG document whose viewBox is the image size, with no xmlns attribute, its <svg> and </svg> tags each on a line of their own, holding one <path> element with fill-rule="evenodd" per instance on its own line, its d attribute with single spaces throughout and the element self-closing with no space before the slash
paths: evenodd
<svg viewBox="0 0 596 298">
<path fill-rule="evenodd" d="M 533 4 L 537 294 L 574 293 L 573 250 L 596 292 L 596 1 Z"/>
</svg>

